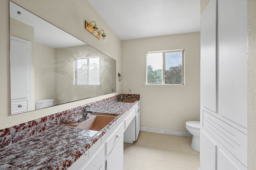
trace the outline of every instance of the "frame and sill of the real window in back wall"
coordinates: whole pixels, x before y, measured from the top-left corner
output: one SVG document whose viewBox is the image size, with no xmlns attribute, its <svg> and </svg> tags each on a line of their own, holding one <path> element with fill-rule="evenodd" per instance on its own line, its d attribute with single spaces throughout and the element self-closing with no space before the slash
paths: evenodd
<svg viewBox="0 0 256 170">
<path fill-rule="evenodd" d="M 170 52 L 182 52 L 182 84 L 165 84 L 165 53 L 170 53 Z M 163 53 L 163 81 L 162 84 L 148 84 L 148 53 Z M 144 86 L 186 86 L 185 84 L 185 49 L 174 49 L 174 50 L 164 50 L 164 51 L 148 51 L 146 52 L 146 83 Z"/>
</svg>

